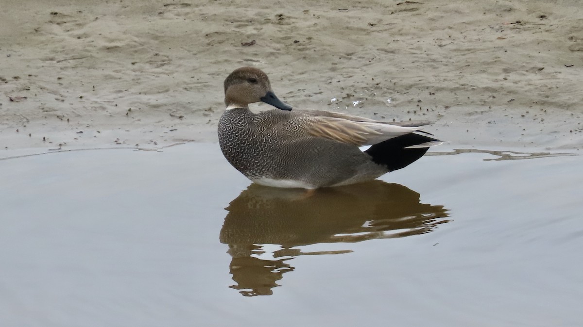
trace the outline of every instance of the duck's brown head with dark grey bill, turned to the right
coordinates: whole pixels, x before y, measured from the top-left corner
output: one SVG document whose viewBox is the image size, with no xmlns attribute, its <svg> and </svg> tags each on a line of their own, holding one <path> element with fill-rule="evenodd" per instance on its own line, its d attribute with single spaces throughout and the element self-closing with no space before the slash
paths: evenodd
<svg viewBox="0 0 583 327">
<path fill-rule="evenodd" d="M 259 101 L 291 111 L 290 105 L 275 96 L 267 75 L 260 69 L 237 68 L 224 80 L 224 104 L 227 108 L 248 108 L 249 104 Z"/>
</svg>

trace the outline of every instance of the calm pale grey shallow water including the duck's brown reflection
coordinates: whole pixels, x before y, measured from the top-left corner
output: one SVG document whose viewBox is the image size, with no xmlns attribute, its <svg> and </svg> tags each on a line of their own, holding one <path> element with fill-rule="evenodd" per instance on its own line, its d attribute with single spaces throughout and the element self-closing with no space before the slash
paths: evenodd
<svg viewBox="0 0 583 327">
<path fill-rule="evenodd" d="M 216 144 L 0 160 L 0 325 L 579 326 L 583 157 L 494 150 L 314 193 Z"/>
</svg>

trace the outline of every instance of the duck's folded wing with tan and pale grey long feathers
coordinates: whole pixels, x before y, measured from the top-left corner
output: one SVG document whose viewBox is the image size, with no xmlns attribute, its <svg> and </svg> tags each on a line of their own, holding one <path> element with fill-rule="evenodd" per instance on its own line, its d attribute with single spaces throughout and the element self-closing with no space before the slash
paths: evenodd
<svg viewBox="0 0 583 327">
<path fill-rule="evenodd" d="M 311 136 L 359 146 L 377 144 L 419 131 L 413 127 L 396 126 L 338 112 L 302 111 L 300 116 L 305 119 L 305 129 Z"/>
</svg>

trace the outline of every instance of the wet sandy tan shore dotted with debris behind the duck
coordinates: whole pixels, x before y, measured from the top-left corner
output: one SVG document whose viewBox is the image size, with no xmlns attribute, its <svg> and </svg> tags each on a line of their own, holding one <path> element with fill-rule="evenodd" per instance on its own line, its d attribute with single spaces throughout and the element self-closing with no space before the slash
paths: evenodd
<svg viewBox="0 0 583 327">
<path fill-rule="evenodd" d="M 70 3 L 2 4 L 2 148 L 216 140 L 240 66 L 297 108 L 433 120 L 468 148 L 583 147 L 579 1 Z"/>
</svg>

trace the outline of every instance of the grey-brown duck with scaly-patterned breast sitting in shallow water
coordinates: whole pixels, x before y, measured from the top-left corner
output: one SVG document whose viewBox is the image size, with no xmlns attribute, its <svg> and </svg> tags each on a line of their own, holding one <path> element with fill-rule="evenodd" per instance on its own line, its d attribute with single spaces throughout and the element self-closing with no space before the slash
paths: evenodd
<svg viewBox="0 0 583 327">
<path fill-rule="evenodd" d="M 254 113 L 249 105 L 274 109 Z M 421 123 L 388 123 L 280 100 L 266 73 L 240 67 L 224 80 L 226 109 L 217 133 L 224 157 L 252 182 L 270 187 L 344 186 L 402 169 L 442 141 Z M 367 150 L 361 147 L 370 145 Z"/>
</svg>

